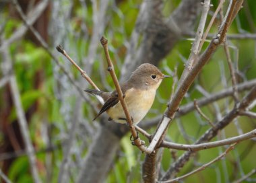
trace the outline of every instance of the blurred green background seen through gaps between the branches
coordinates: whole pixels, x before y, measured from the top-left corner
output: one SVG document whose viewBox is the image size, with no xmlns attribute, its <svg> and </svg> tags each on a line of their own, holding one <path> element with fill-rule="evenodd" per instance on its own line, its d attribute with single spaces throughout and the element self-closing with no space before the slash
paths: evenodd
<svg viewBox="0 0 256 183">
<path fill-rule="evenodd" d="M 55 9 L 54 3 L 59 3 L 60 9 Z M 28 1 L 20 1 L 24 11 L 28 11 Z M 170 15 L 179 5 L 180 1 L 164 1 L 163 14 Z M 212 13 L 218 6 L 218 1 L 212 1 L 214 7 L 210 9 L 210 15 L 207 22 L 210 21 Z M 255 1 L 245 1 L 241 12 L 234 20 L 228 30 L 228 34 L 254 34 L 256 33 L 256 6 Z M 127 48 L 125 44 L 129 41 L 141 1 L 110 1 L 106 13 L 106 28 L 104 36 L 108 38 L 110 56 L 115 63 L 116 72 L 120 75 L 120 70 L 125 58 Z M 11 38 L 13 32 L 18 30 L 22 21 L 11 3 L 1 3 L 1 37 L 3 40 Z M 228 6 L 228 1 L 224 7 Z M 61 9 L 62 8 L 62 9 Z M 67 9 L 68 13 L 63 9 Z M 57 15 L 65 24 L 56 26 L 59 20 Z M 61 17 L 63 16 L 63 17 Z M 36 30 L 40 32 L 42 38 L 49 44 L 49 50 L 54 52 L 65 69 L 75 77 L 81 79 L 79 72 L 64 59 L 61 54 L 55 50 L 57 44 L 63 44 L 65 50 L 82 68 L 88 71 L 86 61 L 84 60 L 90 54 L 90 42 L 93 30 L 93 7 L 91 1 L 55 1 L 51 2 L 44 13 L 40 16 L 36 24 Z M 110 21 L 109 21 L 110 20 Z M 199 17 L 198 17 L 199 20 Z M 61 20 L 60 20 L 61 22 Z M 215 21 L 211 34 L 218 30 L 220 21 Z M 197 26 L 195 26 L 197 28 Z M 196 30 L 196 29 L 195 29 Z M 59 40 L 57 34 L 64 35 L 65 40 Z M 56 37 L 55 37 L 56 36 Z M 160 69 L 166 74 L 172 74 L 177 67 L 177 75 L 181 76 L 184 69 L 184 62 L 187 60 L 191 49 L 191 38 L 193 36 L 184 36 L 174 46 L 170 54 L 167 55 L 160 63 Z M 208 42 L 205 42 L 203 50 Z M 234 65 L 236 65 L 241 75 L 238 82 L 255 79 L 256 73 L 256 42 L 254 39 L 230 39 L 230 53 Z M 9 45 L 11 62 L 13 65 L 13 74 L 18 82 L 18 88 L 22 100 L 22 106 L 26 113 L 30 138 L 36 151 L 36 163 L 40 178 L 43 182 L 57 182 L 59 167 L 63 161 L 63 151 L 65 150 L 65 140 L 69 133 L 72 122 L 75 100 L 82 100 L 77 91 L 71 85 L 65 74 L 59 69 L 53 58 L 46 52 L 40 42 L 36 40 L 31 32 Z M 5 77 L 4 60 L 1 58 L 0 79 Z M 96 51 L 94 53 L 92 71 L 90 76 L 92 80 L 102 90 L 110 91 L 114 89 L 110 75 L 106 71 L 106 61 L 104 51 L 98 40 Z M 81 81 L 80 81 L 81 82 Z M 82 81 L 83 90 L 88 87 L 86 80 Z M 154 106 L 146 119 L 159 116 L 166 109 L 166 104 L 172 91 L 173 79 L 163 81 L 158 89 Z M 189 94 L 183 99 L 182 105 L 193 102 L 194 99 L 203 97 L 203 94 L 197 89 L 201 86 L 209 94 L 214 94 L 222 89 L 232 85 L 230 71 L 224 53 L 223 46 L 220 46 L 212 59 L 203 68 L 203 71 L 197 77 L 194 85 L 189 89 Z M 33 182 L 30 174 L 28 157 L 24 151 L 24 141 L 22 140 L 20 128 L 18 126 L 18 117 L 13 98 L 11 97 L 9 84 L 1 85 L 0 88 L 0 168 L 6 176 L 13 182 Z M 242 98 L 246 92 L 239 94 Z M 86 95 L 86 94 L 85 94 Z M 90 96 L 91 98 L 91 96 Z M 96 102 L 96 98 L 91 98 Z M 215 103 L 218 105 L 220 113 L 224 116 L 232 109 L 234 102 L 232 98 L 225 98 Z M 201 108 L 203 112 L 213 122 L 218 120 L 214 106 L 208 105 Z M 256 109 L 253 108 L 256 112 Z M 73 163 L 69 169 L 70 182 L 75 181 L 79 171 L 79 160 L 85 157 L 93 135 L 88 132 L 95 132 L 97 122 L 92 122 L 95 112 L 88 103 L 83 104 L 83 119 L 79 124 L 76 134 L 75 143 L 72 146 Z M 234 120 L 224 131 L 218 134 L 218 139 L 225 139 L 247 133 L 255 129 L 255 119 L 241 117 Z M 90 127 L 90 129 L 88 129 Z M 174 120 L 168 129 L 168 139 L 175 143 L 193 143 L 198 139 L 210 126 L 197 114 L 191 112 L 179 119 Z M 154 127 L 148 130 L 154 132 Z M 185 133 L 185 135 L 184 135 Z M 143 140 L 147 141 L 143 137 Z M 196 167 L 201 166 L 222 153 L 226 147 L 217 147 L 199 151 L 189 163 L 183 168 L 179 175 L 183 175 Z M 243 175 L 249 173 L 256 165 L 255 159 L 255 139 L 243 141 L 236 145 L 235 149 L 220 161 L 214 163 L 202 172 L 190 176 L 185 182 L 232 182 Z M 175 157 L 179 157 L 183 151 L 164 149 L 162 159 L 162 168 L 167 170 L 170 163 Z M 141 154 L 139 149 L 133 147 L 129 141 L 129 134 L 121 140 L 121 149 L 115 157 L 115 162 L 108 172 L 106 182 L 141 182 L 141 163 L 145 154 Z M 78 162 L 77 162 L 78 161 Z M 82 161 L 82 160 L 81 160 Z M 256 175 L 251 176 L 249 182 L 256 181 Z"/>
</svg>

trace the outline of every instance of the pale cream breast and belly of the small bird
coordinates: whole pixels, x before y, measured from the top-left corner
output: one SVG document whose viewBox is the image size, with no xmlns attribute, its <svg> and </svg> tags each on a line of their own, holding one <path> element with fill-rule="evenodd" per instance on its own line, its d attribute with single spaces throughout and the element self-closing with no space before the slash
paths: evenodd
<svg viewBox="0 0 256 183">
<path fill-rule="evenodd" d="M 146 116 L 154 102 L 155 95 L 156 88 L 149 90 L 131 88 L 126 91 L 125 102 L 131 117 L 133 118 L 134 124 L 137 124 L 144 118 L 144 116 Z M 125 120 L 119 120 L 119 118 L 126 118 L 120 102 L 113 106 L 113 108 L 108 109 L 106 112 L 110 118 L 115 120 L 115 122 L 126 123 Z"/>
</svg>

